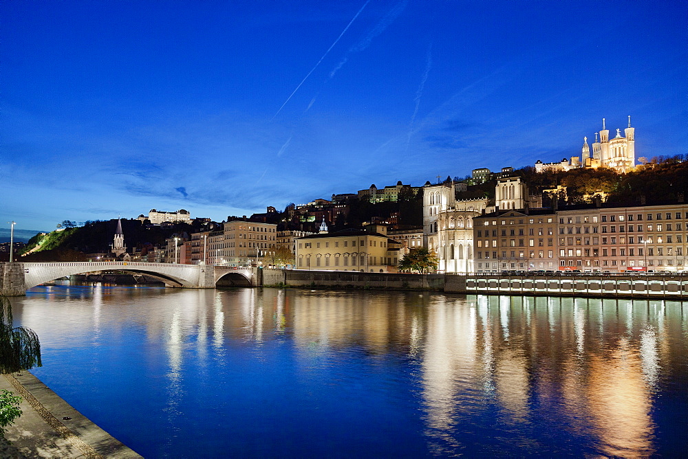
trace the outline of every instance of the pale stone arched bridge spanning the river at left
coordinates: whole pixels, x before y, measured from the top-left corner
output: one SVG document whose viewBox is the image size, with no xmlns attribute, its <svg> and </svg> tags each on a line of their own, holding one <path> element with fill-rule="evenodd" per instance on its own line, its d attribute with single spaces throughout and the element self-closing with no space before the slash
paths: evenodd
<svg viewBox="0 0 688 459">
<path fill-rule="evenodd" d="M 260 284 L 257 269 L 222 265 L 178 265 L 147 262 L 31 262 L 1 263 L 0 292 L 24 295 L 27 289 L 73 274 L 103 271 L 142 273 L 168 287 L 213 289 L 217 286 L 251 287 Z"/>
</svg>

